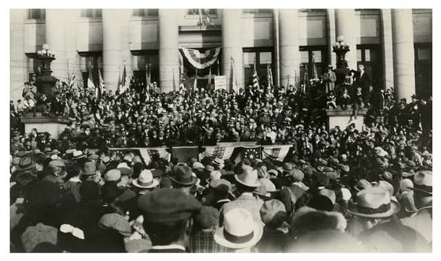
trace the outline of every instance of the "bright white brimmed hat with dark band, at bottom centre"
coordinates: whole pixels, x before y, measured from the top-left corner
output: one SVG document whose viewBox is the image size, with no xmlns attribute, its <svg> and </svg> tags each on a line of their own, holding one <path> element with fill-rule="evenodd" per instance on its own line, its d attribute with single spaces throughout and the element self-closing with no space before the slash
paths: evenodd
<svg viewBox="0 0 441 261">
<path fill-rule="evenodd" d="M 254 246 L 262 238 L 263 227 L 254 222 L 246 209 L 232 209 L 225 213 L 224 226 L 214 233 L 214 241 L 230 249 Z"/>
</svg>

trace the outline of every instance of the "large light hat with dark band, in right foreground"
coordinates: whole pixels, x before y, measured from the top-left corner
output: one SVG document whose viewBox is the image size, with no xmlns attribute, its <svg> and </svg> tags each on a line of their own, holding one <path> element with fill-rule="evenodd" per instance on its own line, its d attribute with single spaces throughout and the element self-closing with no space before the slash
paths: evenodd
<svg viewBox="0 0 441 261">
<path fill-rule="evenodd" d="M 400 211 L 400 204 L 391 200 L 386 189 L 371 187 L 359 191 L 356 203 L 349 206 L 347 211 L 362 218 L 389 218 Z"/>
</svg>

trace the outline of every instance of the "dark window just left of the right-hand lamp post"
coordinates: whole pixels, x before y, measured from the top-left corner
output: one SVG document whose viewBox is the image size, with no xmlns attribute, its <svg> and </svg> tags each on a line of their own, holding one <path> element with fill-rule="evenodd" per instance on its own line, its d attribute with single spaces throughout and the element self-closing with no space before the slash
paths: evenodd
<svg viewBox="0 0 441 261">
<path fill-rule="evenodd" d="M 325 72 L 327 66 L 326 47 L 300 46 L 300 83 L 305 84 L 309 79 L 318 78 Z M 314 75 L 316 74 L 316 75 Z"/>
</svg>

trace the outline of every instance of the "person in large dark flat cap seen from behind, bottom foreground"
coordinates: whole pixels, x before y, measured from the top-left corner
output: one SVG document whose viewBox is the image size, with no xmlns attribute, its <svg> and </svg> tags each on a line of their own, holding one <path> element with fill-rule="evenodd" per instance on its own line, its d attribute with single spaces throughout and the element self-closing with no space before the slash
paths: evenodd
<svg viewBox="0 0 441 261">
<path fill-rule="evenodd" d="M 192 217 L 201 210 L 196 198 L 177 189 L 158 189 L 141 196 L 143 227 L 152 240 L 150 253 L 185 253 Z"/>
</svg>

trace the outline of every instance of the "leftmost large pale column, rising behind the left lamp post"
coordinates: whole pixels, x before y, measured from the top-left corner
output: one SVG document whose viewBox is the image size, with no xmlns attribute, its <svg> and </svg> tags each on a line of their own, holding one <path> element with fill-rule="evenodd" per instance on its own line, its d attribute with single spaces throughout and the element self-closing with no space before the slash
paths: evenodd
<svg viewBox="0 0 441 261">
<path fill-rule="evenodd" d="M 66 55 L 65 17 L 68 10 L 46 9 L 46 43 L 55 53 L 51 63 L 52 76 L 60 81 L 68 81 L 68 60 Z"/>
</svg>

